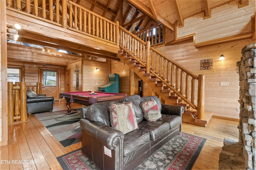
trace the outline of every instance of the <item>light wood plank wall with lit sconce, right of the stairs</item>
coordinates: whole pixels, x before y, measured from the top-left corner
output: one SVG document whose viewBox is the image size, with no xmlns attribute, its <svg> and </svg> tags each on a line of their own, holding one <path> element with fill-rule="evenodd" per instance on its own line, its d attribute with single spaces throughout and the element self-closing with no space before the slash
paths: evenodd
<svg viewBox="0 0 256 170">
<path fill-rule="evenodd" d="M 255 41 L 247 39 L 196 48 L 192 41 L 185 41 L 160 47 L 158 50 L 194 74 L 205 75 L 205 111 L 213 111 L 214 115 L 220 118 L 239 119 L 236 62 L 240 61 L 242 48 L 252 43 Z M 222 54 L 226 60 L 219 61 Z M 213 59 L 212 70 L 200 70 L 200 61 L 205 59 Z M 220 82 L 228 82 L 229 86 L 220 86 Z"/>
</svg>

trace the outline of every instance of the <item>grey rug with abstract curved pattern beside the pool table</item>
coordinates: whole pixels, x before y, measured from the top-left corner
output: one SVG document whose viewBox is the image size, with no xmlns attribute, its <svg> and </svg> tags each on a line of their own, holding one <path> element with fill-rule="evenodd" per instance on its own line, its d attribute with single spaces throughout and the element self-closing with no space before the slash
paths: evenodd
<svg viewBox="0 0 256 170">
<path fill-rule="evenodd" d="M 36 113 L 34 115 L 63 147 L 68 147 L 81 141 L 80 108 L 72 109 L 71 113 L 62 110 Z"/>
</svg>

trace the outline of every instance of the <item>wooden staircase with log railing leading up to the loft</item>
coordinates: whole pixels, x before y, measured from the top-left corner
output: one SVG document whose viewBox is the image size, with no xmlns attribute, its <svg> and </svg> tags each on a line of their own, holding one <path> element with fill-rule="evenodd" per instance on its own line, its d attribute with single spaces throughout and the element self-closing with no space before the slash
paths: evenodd
<svg viewBox="0 0 256 170">
<path fill-rule="evenodd" d="M 185 110 L 182 115 L 183 122 L 206 127 L 212 112 L 204 111 L 204 75 L 195 76 L 150 47 L 150 42 L 146 44 L 123 27 L 119 26 L 119 28 L 119 58 L 152 88 L 152 95 L 158 96 L 162 103 L 183 106 Z M 189 78 L 192 78 L 191 83 Z M 198 80 L 197 99 L 194 99 L 195 80 Z"/>
</svg>

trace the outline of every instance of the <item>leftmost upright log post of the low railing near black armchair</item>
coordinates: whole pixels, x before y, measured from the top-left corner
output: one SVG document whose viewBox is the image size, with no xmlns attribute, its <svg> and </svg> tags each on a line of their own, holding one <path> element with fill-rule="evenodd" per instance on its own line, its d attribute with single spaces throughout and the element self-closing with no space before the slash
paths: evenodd
<svg viewBox="0 0 256 170">
<path fill-rule="evenodd" d="M 14 123 L 13 83 L 8 82 L 8 124 Z"/>
</svg>

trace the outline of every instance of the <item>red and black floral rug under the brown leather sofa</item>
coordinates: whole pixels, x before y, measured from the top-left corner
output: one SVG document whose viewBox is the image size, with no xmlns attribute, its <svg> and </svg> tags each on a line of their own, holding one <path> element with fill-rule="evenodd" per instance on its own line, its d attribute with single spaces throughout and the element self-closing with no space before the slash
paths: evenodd
<svg viewBox="0 0 256 170">
<path fill-rule="evenodd" d="M 136 170 L 189 170 L 192 169 L 206 139 L 180 133 L 158 149 Z M 99 170 L 81 149 L 57 158 L 64 170 Z"/>
</svg>

